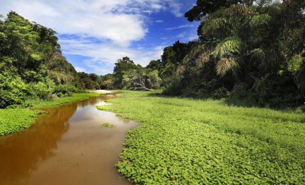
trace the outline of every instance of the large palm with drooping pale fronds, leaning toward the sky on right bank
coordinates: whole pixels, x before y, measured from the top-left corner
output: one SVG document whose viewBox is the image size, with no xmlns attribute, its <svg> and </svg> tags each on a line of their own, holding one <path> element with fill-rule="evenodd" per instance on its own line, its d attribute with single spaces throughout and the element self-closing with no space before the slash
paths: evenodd
<svg viewBox="0 0 305 185">
<path fill-rule="evenodd" d="M 260 1 L 257 5 L 260 10 L 264 9 L 262 12 L 268 6 L 271 6 L 269 1 Z M 250 42 L 255 30 L 267 25 L 270 19 L 267 13 L 260 14 L 255 7 L 245 5 L 232 5 L 207 15 L 201 30 L 203 40 L 185 56 L 177 72 L 183 72 L 190 62 L 195 62 L 198 68 L 214 62 L 217 75 L 223 77 L 228 72 L 236 73 L 249 59 L 249 62 L 264 62 L 264 50 L 256 47 L 261 43 Z"/>
</svg>

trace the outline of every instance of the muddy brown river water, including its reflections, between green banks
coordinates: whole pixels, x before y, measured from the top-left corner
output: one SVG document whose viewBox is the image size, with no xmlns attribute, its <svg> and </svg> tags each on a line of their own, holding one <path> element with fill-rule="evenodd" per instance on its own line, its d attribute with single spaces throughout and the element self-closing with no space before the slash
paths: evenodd
<svg viewBox="0 0 305 185">
<path fill-rule="evenodd" d="M 114 97 L 43 108 L 31 127 L 0 137 L 0 184 L 131 184 L 115 164 L 126 130 L 139 123 L 96 108 Z"/>
</svg>

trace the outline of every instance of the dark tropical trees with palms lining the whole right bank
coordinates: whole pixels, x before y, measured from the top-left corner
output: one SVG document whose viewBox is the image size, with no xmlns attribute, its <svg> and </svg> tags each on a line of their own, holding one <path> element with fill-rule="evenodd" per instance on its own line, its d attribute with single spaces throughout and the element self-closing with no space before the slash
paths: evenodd
<svg viewBox="0 0 305 185">
<path fill-rule="evenodd" d="M 147 74 L 154 70 L 153 88 L 167 95 L 227 98 L 249 106 L 304 103 L 304 1 L 197 0 L 185 16 L 201 22 L 197 40 L 177 41 L 145 68 L 127 64 L 132 62 L 120 70 L 116 66 L 113 75 L 103 77 L 103 88 L 138 87 L 129 84 L 139 82 L 136 71 L 149 85 Z"/>
</svg>

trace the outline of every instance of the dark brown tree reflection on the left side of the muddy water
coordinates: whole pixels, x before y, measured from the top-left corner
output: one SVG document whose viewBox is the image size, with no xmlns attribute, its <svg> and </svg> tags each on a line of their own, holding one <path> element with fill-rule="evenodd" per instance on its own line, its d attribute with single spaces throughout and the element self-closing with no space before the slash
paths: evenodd
<svg viewBox="0 0 305 185">
<path fill-rule="evenodd" d="M 48 114 L 39 116 L 30 128 L 0 137 L 0 184 L 28 177 L 40 161 L 54 155 L 52 150 L 68 131 L 68 120 L 76 108 L 77 103 L 44 108 Z"/>
</svg>

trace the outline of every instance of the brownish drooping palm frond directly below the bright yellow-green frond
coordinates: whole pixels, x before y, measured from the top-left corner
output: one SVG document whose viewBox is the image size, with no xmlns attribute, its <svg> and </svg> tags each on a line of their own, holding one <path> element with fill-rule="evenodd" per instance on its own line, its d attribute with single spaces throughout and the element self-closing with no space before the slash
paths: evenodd
<svg viewBox="0 0 305 185">
<path fill-rule="evenodd" d="M 238 67 L 238 63 L 236 58 L 229 57 L 229 58 L 221 58 L 216 65 L 216 72 L 217 75 L 225 76 L 226 73 L 234 68 Z"/>
</svg>

